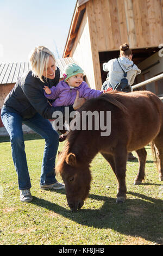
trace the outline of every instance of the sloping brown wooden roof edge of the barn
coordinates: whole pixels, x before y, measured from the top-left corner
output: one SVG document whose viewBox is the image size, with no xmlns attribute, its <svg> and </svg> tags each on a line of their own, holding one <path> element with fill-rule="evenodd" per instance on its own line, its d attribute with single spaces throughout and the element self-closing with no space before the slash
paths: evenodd
<svg viewBox="0 0 163 256">
<path fill-rule="evenodd" d="M 63 57 L 68 57 L 71 52 L 74 40 L 76 39 L 77 32 L 80 27 L 80 23 L 82 22 L 83 15 L 85 13 L 85 3 L 88 1 L 89 0 L 77 0 L 76 7 L 74 9 L 73 17 L 71 20 L 70 29 L 67 36 Z"/>
</svg>

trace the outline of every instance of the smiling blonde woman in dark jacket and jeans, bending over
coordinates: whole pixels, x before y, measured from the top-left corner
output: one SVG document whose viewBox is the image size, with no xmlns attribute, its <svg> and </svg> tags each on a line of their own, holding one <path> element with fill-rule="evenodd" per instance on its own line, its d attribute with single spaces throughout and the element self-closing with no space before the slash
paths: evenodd
<svg viewBox="0 0 163 256">
<path fill-rule="evenodd" d="M 47 120 L 53 119 L 55 111 L 64 113 L 65 107 L 49 105 L 43 90 L 45 82 L 49 88 L 57 85 L 60 71 L 53 53 L 43 46 L 36 47 L 32 51 L 30 64 L 31 69 L 18 78 L 14 88 L 6 97 L 1 111 L 1 119 L 10 136 L 12 159 L 18 176 L 22 202 L 31 202 L 33 199 L 30 193 L 31 183 L 24 151 L 22 123 L 45 139 L 40 187 L 54 190 L 65 188 L 64 184 L 55 179 L 54 173 L 59 136 Z M 74 104 L 69 106 L 69 111 L 77 109 L 83 103 L 84 99 L 77 96 Z"/>
</svg>

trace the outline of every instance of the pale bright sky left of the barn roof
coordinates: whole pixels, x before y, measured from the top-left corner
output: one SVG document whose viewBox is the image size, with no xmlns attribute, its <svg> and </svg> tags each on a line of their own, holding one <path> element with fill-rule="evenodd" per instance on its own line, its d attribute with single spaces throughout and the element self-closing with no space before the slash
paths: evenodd
<svg viewBox="0 0 163 256">
<path fill-rule="evenodd" d="M 76 2 L 0 0 L 0 63 L 27 61 L 39 45 L 62 57 Z"/>
</svg>

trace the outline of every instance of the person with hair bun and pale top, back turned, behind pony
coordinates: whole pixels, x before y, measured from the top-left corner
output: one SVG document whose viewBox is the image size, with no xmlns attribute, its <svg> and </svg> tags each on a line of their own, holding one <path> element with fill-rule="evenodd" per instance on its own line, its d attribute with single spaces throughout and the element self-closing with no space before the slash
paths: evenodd
<svg viewBox="0 0 163 256">
<path fill-rule="evenodd" d="M 131 85 L 134 83 L 136 75 L 141 73 L 141 70 L 132 61 L 133 53 L 127 43 L 120 46 L 120 57 L 117 59 L 111 59 L 109 62 L 103 64 L 103 70 L 108 72 L 106 81 L 102 85 L 102 90 L 108 88 L 114 89 L 114 87 L 120 83 L 124 76 L 124 72 L 127 72 L 128 85 L 131 92 L 133 88 Z M 128 154 L 128 160 L 136 159 L 132 153 Z"/>
</svg>

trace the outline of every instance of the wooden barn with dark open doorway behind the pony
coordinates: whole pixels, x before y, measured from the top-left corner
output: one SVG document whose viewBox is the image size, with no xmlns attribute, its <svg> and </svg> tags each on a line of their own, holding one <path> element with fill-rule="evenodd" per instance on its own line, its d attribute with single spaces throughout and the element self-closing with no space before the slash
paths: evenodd
<svg viewBox="0 0 163 256">
<path fill-rule="evenodd" d="M 135 83 L 163 72 L 163 54 L 159 54 L 163 0 L 78 0 L 63 57 L 73 57 L 84 69 L 89 86 L 101 89 L 106 78 L 102 64 L 117 58 L 124 42 L 129 43 L 133 61 L 142 71 Z M 161 83 L 143 89 L 161 95 Z"/>
</svg>

